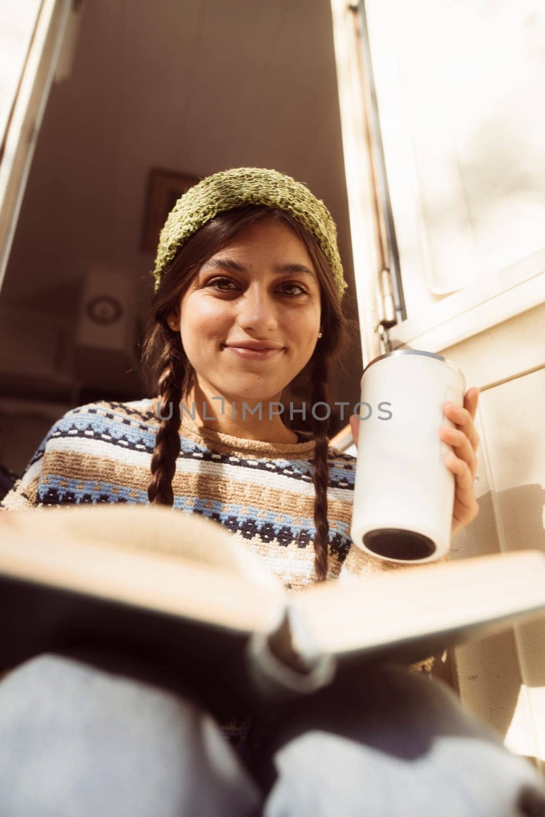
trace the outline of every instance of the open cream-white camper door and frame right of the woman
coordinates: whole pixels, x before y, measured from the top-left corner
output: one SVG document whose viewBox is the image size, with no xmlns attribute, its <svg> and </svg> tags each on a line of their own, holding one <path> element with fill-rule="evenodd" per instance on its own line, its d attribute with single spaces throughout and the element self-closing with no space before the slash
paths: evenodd
<svg viewBox="0 0 545 817">
<path fill-rule="evenodd" d="M 364 27 L 361 5 L 331 4 L 367 364 L 383 348 Z M 453 538 L 451 557 L 545 551 L 543 3 L 364 5 L 407 310 L 389 340 L 446 355 L 481 389 L 480 513 Z M 462 702 L 543 771 L 544 636 L 543 618 L 511 627 L 453 650 L 445 673 Z"/>
</svg>

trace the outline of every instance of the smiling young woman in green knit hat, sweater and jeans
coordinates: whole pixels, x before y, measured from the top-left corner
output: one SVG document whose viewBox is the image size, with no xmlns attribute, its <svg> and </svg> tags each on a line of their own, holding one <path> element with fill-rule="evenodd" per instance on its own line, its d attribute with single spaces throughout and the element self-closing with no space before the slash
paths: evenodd
<svg viewBox="0 0 545 817">
<path fill-rule="evenodd" d="M 272 170 L 208 176 L 168 217 L 154 277 L 144 348 L 154 396 L 66 413 L 0 507 L 151 502 L 200 513 L 289 592 L 395 569 L 352 545 L 355 460 L 328 448 L 319 419 L 349 328 L 324 203 Z M 314 409 L 311 431 L 296 430 L 288 386 Z M 456 452 L 445 459 L 453 534 L 478 511 L 477 395 L 445 404 L 457 428 L 438 430 Z M 183 694 L 133 681 L 123 657 L 97 668 L 39 656 L 0 683 L 0 813 L 378 817 L 440 801 L 457 817 L 545 814 L 537 771 L 430 682 L 431 661 L 311 694 L 258 733 L 251 719 L 217 725 Z"/>
</svg>

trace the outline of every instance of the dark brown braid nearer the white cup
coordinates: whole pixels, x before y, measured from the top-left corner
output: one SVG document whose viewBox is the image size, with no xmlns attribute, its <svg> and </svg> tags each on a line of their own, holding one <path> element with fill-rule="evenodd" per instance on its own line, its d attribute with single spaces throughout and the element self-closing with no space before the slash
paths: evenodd
<svg viewBox="0 0 545 817">
<path fill-rule="evenodd" d="M 317 355 L 312 365 L 312 405 L 316 403 L 328 404 L 328 362 L 324 355 Z M 321 408 L 321 407 L 320 407 Z M 318 416 L 321 416 L 317 410 Z M 328 420 L 316 420 L 312 415 L 313 433 L 315 438 L 314 453 L 314 523 L 316 535 L 315 575 L 316 581 L 324 582 L 328 573 Z"/>
</svg>

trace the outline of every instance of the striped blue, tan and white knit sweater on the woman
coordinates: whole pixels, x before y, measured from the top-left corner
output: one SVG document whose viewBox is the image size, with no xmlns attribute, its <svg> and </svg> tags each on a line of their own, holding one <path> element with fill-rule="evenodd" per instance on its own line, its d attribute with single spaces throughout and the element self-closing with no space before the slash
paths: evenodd
<svg viewBox="0 0 545 817">
<path fill-rule="evenodd" d="M 25 474 L 0 502 L 20 510 L 83 502 L 148 504 L 158 399 L 100 401 L 71 409 L 48 431 Z M 275 574 L 288 593 L 314 581 L 314 485 L 310 432 L 298 443 L 244 440 L 199 426 L 184 412 L 172 480 L 174 508 L 217 520 Z M 351 542 L 355 458 L 328 450 L 328 579 L 403 569 Z M 410 568 L 409 568 L 410 569 Z M 430 672 L 433 659 L 413 664 Z M 249 721 L 222 724 L 243 757 Z"/>
</svg>

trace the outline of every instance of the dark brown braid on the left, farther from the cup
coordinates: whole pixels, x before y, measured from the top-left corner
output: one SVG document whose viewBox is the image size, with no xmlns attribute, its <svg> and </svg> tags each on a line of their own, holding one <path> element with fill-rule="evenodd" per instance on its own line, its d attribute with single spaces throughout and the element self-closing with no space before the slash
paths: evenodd
<svg viewBox="0 0 545 817">
<path fill-rule="evenodd" d="M 179 343 L 179 342 L 178 342 Z M 169 337 L 158 361 L 160 416 L 151 458 L 151 480 L 148 499 L 155 505 L 174 503 L 172 480 L 176 473 L 176 459 L 180 453 L 180 404 L 185 383 L 186 367 L 176 348 L 176 340 Z"/>
</svg>

